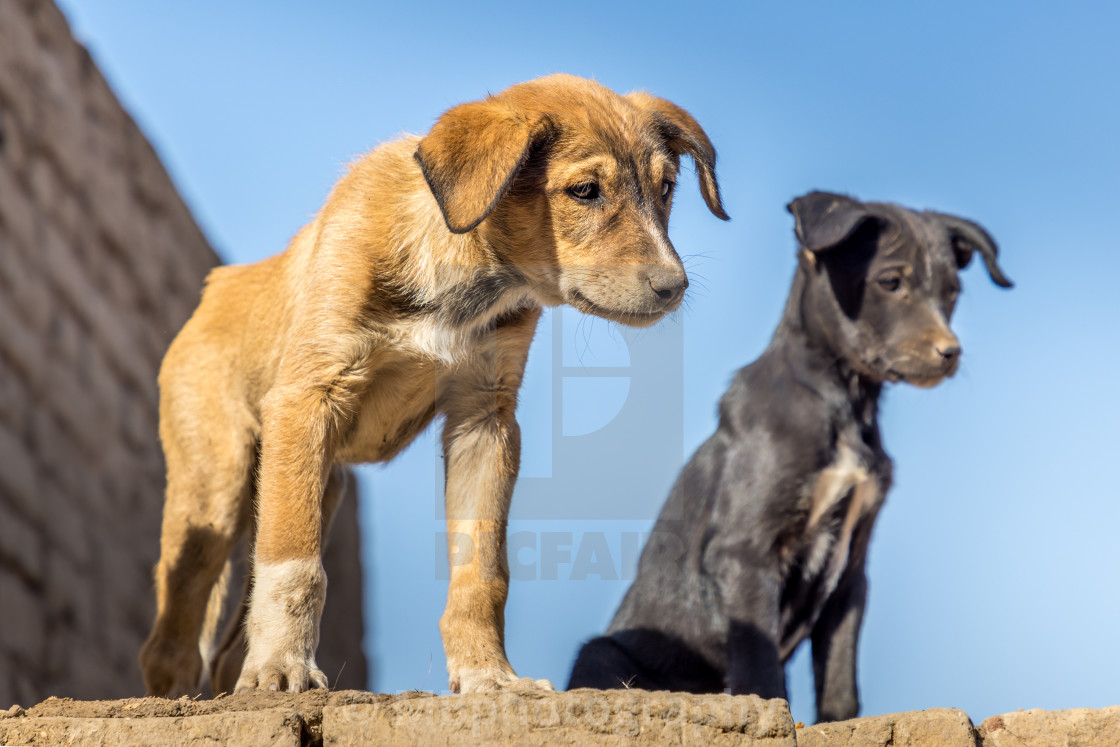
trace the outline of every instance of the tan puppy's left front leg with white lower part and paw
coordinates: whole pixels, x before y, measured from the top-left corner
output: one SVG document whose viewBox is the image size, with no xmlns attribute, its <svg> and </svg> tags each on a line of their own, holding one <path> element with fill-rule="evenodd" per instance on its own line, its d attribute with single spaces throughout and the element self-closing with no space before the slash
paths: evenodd
<svg viewBox="0 0 1120 747">
<path fill-rule="evenodd" d="M 315 650 L 327 592 L 320 548 L 333 404 L 318 387 L 281 387 L 262 407 L 249 651 L 237 691 L 327 687 Z"/>
</svg>

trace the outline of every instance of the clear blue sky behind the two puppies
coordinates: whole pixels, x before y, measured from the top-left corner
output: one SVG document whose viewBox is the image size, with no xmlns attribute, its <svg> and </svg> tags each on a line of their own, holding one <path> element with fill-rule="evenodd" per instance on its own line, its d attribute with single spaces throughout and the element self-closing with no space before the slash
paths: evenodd
<svg viewBox="0 0 1120 747">
<path fill-rule="evenodd" d="M 962 371 L 886 394 L 896 485 L 870 551 L 864 713 L 1120 702 L 1120 6 L 62 6 L 234 262 L 282 250 L 355 156 L 519 81 L 645 88 L 706 127 L 734 220 L 684 180 L 687 310 L 640 335 L 548 317 L 530 357 L 507 644 L 558 685 L 769 337 L 794 268 L 784 205 L 819 188 L 981 222 L 1017 287 L 970 268 Z M 442 690 L 433 435 L 362 475 L 371 687 Z M 790 678 L 811 720 L 806 656 Z"/>
</svg>

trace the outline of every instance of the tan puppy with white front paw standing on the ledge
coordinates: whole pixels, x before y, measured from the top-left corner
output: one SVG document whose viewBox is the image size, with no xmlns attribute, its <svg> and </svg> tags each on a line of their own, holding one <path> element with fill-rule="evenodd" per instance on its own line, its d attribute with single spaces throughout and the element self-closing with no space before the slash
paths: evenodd
<svg viewBox="0 0 1120 747">
<path fill-rule="evenodd" d="M 682 155 L 726 220 L 716 152 L 685 111 L 568 75 L 523 83 L 375 149 L 284 253 L 211 274 L 159 376 L 168 485 L 140 654 L 150 694 L 197 692 L 215 583 L 253 527 L 236 688 L 326 687 L 315 650 L 335 465 L 392 459 L 437 414 L 448 532 L 476 549 L 451 568 L 440 619 L 450 687 L 519 682 L 505 524 L 533 329 L 541 306 L 634 326 L 680 306 L 688 279 L 666 226 Z"/>
</svg>

